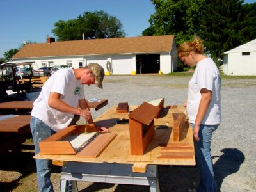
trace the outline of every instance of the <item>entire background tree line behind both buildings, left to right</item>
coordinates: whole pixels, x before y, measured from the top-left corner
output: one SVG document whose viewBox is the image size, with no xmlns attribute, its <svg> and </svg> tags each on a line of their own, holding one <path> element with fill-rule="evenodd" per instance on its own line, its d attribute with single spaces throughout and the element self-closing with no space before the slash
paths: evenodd
<svg viewBox="0 0 256 192">
<path fill-rule="evenodd" d="M 241 0 L 151 0 L 155 7 L 143 36 L 175 35 L 175 42 L 204 40 L 212 58 L 256 38 L 256 3 Z M 57 41 L 124 37 L 122 22 L 104 11 L 84 12 L 76 19 L 59 20 L 52 33 Z M 30 43 L 31 41 L 28 41 Z M 35 42 L 34 42 L 35 43 Z M 10 60 L 24 45 L 4 52 Z M 1 62 L 1 61 L 0 61 Z"/>
</svg>

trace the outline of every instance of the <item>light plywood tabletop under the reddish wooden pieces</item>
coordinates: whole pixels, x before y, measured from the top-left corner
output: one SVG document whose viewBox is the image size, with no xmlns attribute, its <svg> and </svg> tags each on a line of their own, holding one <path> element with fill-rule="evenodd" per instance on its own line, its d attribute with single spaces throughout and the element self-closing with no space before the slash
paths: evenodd
<svg viewBox="0 0 256 192">
<path fill-rule="evenodd" d="M 96 118 L 95 122 L 101 120 L 109 120 L 112 118 L 128 119 L 129 113 L 116 113 L 116 107 L 108 109 L 105 113 Z M 129 106 L 132 111 L 136 106 Z M 173 116 L 172 113 L 183 112 L 183 106 L 177 108 L 166 109 L 163 108 L 159 118 L 155 119 L 155 136 L 148 146 L 143 156 L 130 155 L 130 140 L 129 140 L 129 124 L 116 124 L 110 127 L 111 132 L 117 134 L 116 138 L 108 145 L 107 148 L 97 158 L 81 158 L 74 155 L 41 155 L 38 154 L 35 158 L 52 159 L 57 161 L 77 161 L 77 162 L 92 162 L 92 163 L 127 163 L 127 164 L 170 164 L 170 165 L 195 165 L 195 154 L 192 158 L 158 158 L 161 156 L 161 147 L 163 143 L 173 143 Z M 167 129 L 157 129 L 161 125 L 169 124 Z M 189 143 L 193 147 L 193 134 L 191 128 L 186 125 L 186 129 L 182 134 L 183 139 L 180 143 Z M 182 148 L 180 149 L 182 152 Z M 186 152 L 186 150 L 184 150 Z M 120 155 L 122 154 L 122 155 Z"/>
</svg>

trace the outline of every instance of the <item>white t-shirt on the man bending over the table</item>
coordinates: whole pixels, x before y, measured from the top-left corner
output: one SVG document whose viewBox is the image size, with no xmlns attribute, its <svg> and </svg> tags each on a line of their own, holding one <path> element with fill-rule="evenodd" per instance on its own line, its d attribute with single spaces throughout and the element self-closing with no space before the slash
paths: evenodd
<svg viewBox="0 0 256 192">
<path fill-rule="evenodd" d="M 60 99 L 76 108 L 79 99 L 84 99 L 84 89 L 77 80 L 72 68 L 58 70 L 45 82 L 40 95 L 34 102 L 31 115 L 39 118 L 46 125 L 58 132 L 67 127 L 74 114 L 63 113 L 48 106 L 50 92 L 60 93 Z"/>
</svg>

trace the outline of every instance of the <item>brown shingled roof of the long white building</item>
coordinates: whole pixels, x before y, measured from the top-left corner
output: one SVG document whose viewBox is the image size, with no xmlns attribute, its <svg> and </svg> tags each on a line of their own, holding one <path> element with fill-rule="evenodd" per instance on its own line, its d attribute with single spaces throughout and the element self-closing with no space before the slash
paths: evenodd
<svg viewBox="0 0 256 192">
<path fill-rule="evenodd" d="M 173 42 L 173 35 L 164 35 L 28 44 L 13 58 L 170 52 Z"/>
</svg>

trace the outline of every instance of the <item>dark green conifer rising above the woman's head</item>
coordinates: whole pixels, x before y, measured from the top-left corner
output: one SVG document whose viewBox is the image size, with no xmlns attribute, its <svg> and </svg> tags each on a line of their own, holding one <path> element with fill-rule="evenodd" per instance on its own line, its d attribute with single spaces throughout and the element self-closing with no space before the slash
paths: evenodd
<svg viewBox="0 0 256 192">
<path fill-rule="evenodd" d="M 237 0 L 205 0 L 198 35 L 212 57 L 220 58 L 223 52 L 241 44 L 237 32 L 239 17 L 243 17 L 242 3 Z"/>
</svg>

